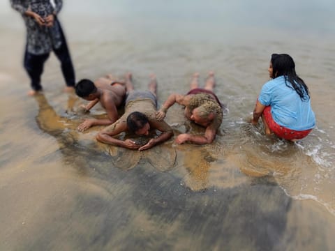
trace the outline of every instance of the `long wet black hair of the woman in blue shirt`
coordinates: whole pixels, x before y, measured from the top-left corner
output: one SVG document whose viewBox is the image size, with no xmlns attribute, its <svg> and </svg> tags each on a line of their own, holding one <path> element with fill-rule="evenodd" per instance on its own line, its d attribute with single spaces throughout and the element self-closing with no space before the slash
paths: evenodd
<svg viewBox="0 0 335 251">
<path fill-rule="evenodd" d="M 295 73 L 295 61 L 288 54 L 272 54 L 271 63 L 273 78 L 284 76 L 285 84 L 295 90 L 301 100 L 309 100 L 308 87 L 297 73 Z M 289 82 L 289 83 L 288 83 Z"/>
</svg>

